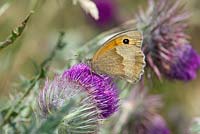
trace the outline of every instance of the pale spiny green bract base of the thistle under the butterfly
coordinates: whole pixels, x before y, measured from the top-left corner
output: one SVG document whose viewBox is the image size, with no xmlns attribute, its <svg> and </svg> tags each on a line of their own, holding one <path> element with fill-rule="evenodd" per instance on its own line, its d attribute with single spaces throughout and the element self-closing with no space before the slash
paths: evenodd
<svg viewBox="0 0 200 134">
<path fill-rule="evenodd" d="M 58 126 L 59 133 L 83 134 L 97 133 L 99 129 L 99 110 L 91 95 L 83 87 L 58 75 L 53 81 L 46 81 L 39 93 L 39 114 L 45 119 L 59 112 L 69 102 L 74 101 L 69 114 L 64 115 Z"/>
</svg>

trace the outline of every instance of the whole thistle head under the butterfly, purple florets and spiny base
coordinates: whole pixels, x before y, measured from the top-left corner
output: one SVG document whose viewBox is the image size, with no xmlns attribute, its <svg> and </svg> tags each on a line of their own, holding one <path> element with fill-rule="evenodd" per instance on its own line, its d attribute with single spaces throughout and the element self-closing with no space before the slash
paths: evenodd
<svg viewBox="0 0 200 134">
<path fill-rule="evenodd" d="M 75 101 L 64 116 L 59 133 L 97 133 L 99 120 L 111 116 L 118 108 L 117 88 L 108 76 L 98 75 L 85 64 L 78 64 L 46 81 L 39 93 L 39 108 L 43 117 L 57 112 L 69 100 Z"/>
</svg>

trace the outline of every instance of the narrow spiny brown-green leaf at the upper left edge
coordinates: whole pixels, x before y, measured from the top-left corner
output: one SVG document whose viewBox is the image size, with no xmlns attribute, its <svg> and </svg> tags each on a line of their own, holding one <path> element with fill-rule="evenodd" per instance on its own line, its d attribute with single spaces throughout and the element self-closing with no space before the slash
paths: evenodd
<svg viewBox="0 0 200 134">
<path fill-rule="evenodd" d="M 31 11 L 29 15 L 22 21 L 22 23 L 11 32 L 11 35 L 9 35 L 5 41 L 0 42 L 0 50 L 13 44 L 15 40 L 21 36 L 32 14 L 33 11 Z"/>
</svg>

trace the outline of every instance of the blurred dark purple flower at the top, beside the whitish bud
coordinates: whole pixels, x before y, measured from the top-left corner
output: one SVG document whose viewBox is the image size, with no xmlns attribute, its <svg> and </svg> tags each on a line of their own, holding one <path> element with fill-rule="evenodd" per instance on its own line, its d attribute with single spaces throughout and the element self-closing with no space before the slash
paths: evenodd
<svg viewBox="0 0 200 134">
<path fill-rule="evenodd" d="M 115 0 L 94 0 L 98 11 L 99 19 L 90 18 L 99 28 L 108 28 L 118 23 L 117 6 Z"/>
</svg>

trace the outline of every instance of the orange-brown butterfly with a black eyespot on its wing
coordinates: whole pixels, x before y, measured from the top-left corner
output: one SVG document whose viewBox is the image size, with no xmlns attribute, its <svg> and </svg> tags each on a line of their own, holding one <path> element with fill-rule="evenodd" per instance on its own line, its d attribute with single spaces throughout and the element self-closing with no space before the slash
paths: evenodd
<svg viewBox="0 0 200 134">
<path fill-rule="evenodd" d="M 143 35 L 139 31 L 123 31 L 106 41 L 91 59 L 97 73 L 126 79 L 135 83 L 144 73 Z"/>
</svg>

